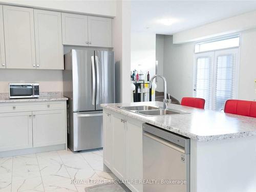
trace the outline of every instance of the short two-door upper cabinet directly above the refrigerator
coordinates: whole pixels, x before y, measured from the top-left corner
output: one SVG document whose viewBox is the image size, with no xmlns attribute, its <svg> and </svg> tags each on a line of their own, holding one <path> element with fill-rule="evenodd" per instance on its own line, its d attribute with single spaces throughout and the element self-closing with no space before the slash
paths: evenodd
<svg viewBox="0 0 256 192">
<path fill-rule="evenodd" d="M 63 45 L 112 47 L 112 19 L 61 13 Z"/>
</svg>

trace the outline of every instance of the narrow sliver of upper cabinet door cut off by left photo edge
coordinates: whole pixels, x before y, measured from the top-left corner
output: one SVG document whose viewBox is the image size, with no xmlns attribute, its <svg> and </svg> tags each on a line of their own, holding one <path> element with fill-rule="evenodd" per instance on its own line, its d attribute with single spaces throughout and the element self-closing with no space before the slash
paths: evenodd
<svg viewBox="0 0 256 192">
<path fill-rule="evenodd" d="M 3 6 L 0 5 L 0 69 L 5 69 L 5 37 L 4 37 L 4 18 Z"/>
</svg>

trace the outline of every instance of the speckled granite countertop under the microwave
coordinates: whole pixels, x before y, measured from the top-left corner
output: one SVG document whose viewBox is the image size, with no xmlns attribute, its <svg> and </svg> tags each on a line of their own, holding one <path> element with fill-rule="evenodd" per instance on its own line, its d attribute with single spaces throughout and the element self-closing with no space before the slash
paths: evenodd
<svg viewBox="0 0 256 192">
<path fill-rule="evenodd" d="M 39 95 L 39 98 L 10 99 L 9 93 L 0 93 L 0 103 L 68 100 L 67 97 L 63 96 L 62 92 L 41 92 Z"/>
</svg>

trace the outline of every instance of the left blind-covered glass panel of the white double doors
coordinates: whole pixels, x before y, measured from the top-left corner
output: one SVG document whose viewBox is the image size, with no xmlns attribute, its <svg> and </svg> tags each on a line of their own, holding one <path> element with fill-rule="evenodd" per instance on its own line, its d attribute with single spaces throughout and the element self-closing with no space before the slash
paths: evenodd
<svg viewBox="0 0 256 192">
<path fill-rule="evenodd" d="M 210 108 L 211 57 L 198 56 L 196 61 L 196 97 L 205 99 L 205 108 Z"/>
</svg>

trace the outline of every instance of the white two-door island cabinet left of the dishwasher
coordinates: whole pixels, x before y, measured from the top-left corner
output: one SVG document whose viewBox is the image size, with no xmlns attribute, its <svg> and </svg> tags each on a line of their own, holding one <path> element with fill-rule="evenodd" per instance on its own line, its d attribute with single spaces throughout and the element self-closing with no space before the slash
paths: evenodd
<svg viewBox="0 0 256 192">
<path fill-rule="evenodd" d="M 143 174 L 142 123 L 120 114 L 103 113 L 103 159 L 118 179 L 139 182 Z M 132 191 L 143 191 L 142 184 L 125 184 Z"/>
</svg>

